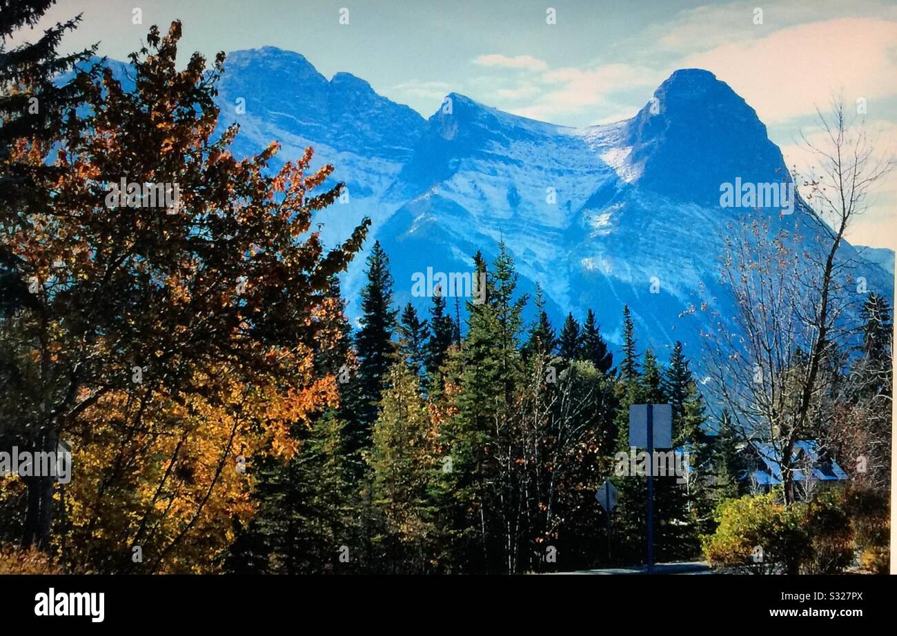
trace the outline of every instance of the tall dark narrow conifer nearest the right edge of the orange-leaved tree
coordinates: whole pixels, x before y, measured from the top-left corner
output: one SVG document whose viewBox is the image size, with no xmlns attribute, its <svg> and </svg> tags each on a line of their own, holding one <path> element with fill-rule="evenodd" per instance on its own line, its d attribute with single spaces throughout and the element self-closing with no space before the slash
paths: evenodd
<svg viewBox="0 0 897 636">
<path fill-rule="evenodd" d="M 389 257 L 379 241 L 366 260 L 368 283 L 361 290 L 361 329 L 355 335 L 358 370 L 353 379 L 356 420 L 347 431 L 347 450 L 351 453 L 370 444 L 370 426 L 377 419 L 383 381 L 396 361 L 396 309 L 393 304 L 393 277 Z"/>
</svg>

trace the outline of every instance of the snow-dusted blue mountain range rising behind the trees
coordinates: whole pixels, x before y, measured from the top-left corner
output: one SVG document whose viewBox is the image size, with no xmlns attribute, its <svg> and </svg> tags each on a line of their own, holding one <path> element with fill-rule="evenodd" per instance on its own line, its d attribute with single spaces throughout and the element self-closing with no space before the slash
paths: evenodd
<svg viewBox="0 0 897 636">
<path fill-rule="evenodd" d="M 748 212 L 720 207 L 720 185 L 790 182 L 753 109 L 700 69 L 676 71 L 635 117 L 584 129 L 457 93 L 424 120 L 351 74 L 327 81 L 304 57 L 277 48 L 231 53 L 226 69 L 222 125 L 240 124 L 238 154 L 278 140 L 285 161 L 314 146 L 316 161 L 333 163 L 349 193 L 321 214 L 325 240 L 335 243 L 370 216 L 369 244 L 379 239 L 389 254 L 396 301 L 423 311 L 431 301 L 412 297 L 414 273 L 469 272 L 476 250 L 491 260 L 503 240 L 520 290 L 540 283 L 556 325 L 568 311 L 582 318 L 595 309 L 619 342 L 629 303 L 640 347 L 662 350 L 676 339 L 696 346 L 700 318 L 680 315 L 706 298 L 701 288 L 718 291 L 727 223 Z M 240 98 L 245 113 L 235 109 Z M 773 224 L 795 218 L 760 213 Z M 844 257 L 858 258 L 870 291 L 893 297 L 881 266 L 850 246 Z M 362 280 L 358 258 L 344 281 L 353 317 Z"/>
</svg>

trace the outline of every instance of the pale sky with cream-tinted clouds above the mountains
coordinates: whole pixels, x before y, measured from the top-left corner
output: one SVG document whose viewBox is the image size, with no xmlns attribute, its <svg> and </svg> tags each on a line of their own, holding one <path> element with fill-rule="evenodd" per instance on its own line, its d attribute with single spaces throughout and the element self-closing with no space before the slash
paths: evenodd
<svg viewBox="0 0 897 636">
<path fill-rule="evenodd" d="M 135 24 L 135 8 L 142 23 Z M 565 126 L 630 118 L 677 68 L 706 68 L 756 111 L 788 166 L 810 167 L 832 96 L 865 105 L 875 154 L 897 155 L 897 0 L 59 0 L 83 13 L 65 50 L 125 59 L 151 24 L 183 22 L 180 50 L 274 46 L 339 71 L 423 117 L 446 94 Z M 26 32 L 26 39 L 38 33 Z M 850 231 L 897 248 L 897 170 Z"/>
</svg>

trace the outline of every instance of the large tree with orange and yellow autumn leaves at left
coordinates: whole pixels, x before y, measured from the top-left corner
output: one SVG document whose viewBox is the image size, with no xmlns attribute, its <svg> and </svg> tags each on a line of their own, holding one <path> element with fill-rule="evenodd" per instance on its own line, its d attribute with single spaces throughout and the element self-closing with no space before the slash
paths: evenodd
<svg viewBox="0 0 897 636">
<path fill-rule="evenodd" d="M 35 288 L 0 320 L 23 379 L 0 415 L 22 423 L 23 446 L 72 446 L 70 484 L 27 483 L 52 492 L 50 547 L 71 571 L 217 571 L 254 511 L 254 459 L 288 460 L 291 425 L 336 401 L 314 353 L 340 337 L 328 281 L 369 222 L 325 248 L 314 214 L 341 185 L 313 190 L 333 168 L 312 169 L 309 148 L 274 170 L 277 144 L 237 160 L 238 127 L 219 127 L 213 100 L 223 54 L 178 70 L 179 38 L 179 22 L 150 30 L 133 91 L 109 69 L 79 74 L 83 121 L 7 160 L 41 187 L 0 212 Z M 177 205 L 111 196 L 122 179 L 177 184 Z"/>
</svg>

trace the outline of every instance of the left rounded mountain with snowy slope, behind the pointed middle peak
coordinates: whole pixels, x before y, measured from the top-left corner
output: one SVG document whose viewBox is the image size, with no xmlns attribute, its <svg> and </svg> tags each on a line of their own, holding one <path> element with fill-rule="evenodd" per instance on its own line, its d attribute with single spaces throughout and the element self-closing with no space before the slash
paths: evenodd
<svg viewBox="0 0 897 636">
<path fill-rule="evenodd" d="M 315 148 L 313 165 L 331 163 L 333 182 L 348 187 L 348 202 L 319 216 L 323 239 L 335 244 L 363 216 L 385 221 L 402 204 L 386 193 L 422 135 L 424 119 L 378 95 L 352 74 L 327 79 L 305 57 L 279 48 L 235 51 L 219 84 L 222 126 L 238 123 L 238 155 L 276 140 L 280 161 Z"/>
</svg>

